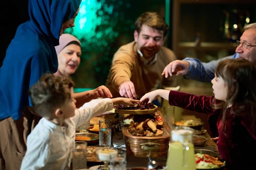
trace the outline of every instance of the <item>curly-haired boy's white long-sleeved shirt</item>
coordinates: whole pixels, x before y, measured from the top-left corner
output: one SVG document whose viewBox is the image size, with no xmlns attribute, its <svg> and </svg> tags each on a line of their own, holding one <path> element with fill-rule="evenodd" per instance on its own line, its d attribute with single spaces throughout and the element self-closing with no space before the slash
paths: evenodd
<svg viewBox="0 0 256 170">
<path fill-rule="evenodd" d="M 64 120 L 63 126 L 40 119 L 27 137 L 27 152 L 20 170 L 69 170 L 76 128 L 112 109 L 111 99 L 95 99 L 76 109 L 75 116 Z"/>
</svg>

